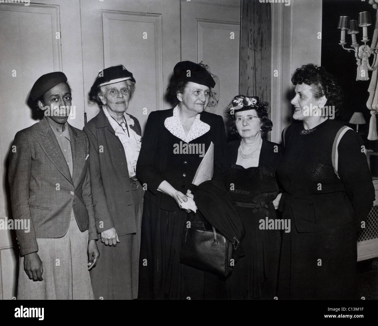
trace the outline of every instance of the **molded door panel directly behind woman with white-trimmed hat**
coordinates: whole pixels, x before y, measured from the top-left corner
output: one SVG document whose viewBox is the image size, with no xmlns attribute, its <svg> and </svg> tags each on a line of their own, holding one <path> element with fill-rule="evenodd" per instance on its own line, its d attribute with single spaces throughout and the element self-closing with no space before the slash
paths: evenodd
<svg viewBox="0 0 378 326">
<path fill-rule="evenodd" d="M 127 112 L 141 121 L 146 118 L 146 115 L 143 116 L 144 107 L 148 112 L 162 110 L 161 15 L 102 12 L 102 26 L 104 67 L 123 63 L 135 76 L 136 88 L 140 88 L 135 92 Z M 120 45 L 121 50 L 115 51 Z"/>
</svg>

